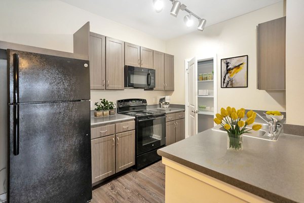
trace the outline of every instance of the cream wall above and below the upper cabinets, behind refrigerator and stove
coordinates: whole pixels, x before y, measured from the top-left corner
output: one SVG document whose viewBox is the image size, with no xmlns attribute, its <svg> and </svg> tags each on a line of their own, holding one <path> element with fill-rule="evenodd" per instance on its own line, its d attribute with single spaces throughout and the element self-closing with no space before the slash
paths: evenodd
<svg viewBox="0 0 304 203">
<path fill-rule="evenodd" d="M 166 51 L 163 40 L 57 0 L 1 0 L 0 19 L 1 41 L 73 52 L 73 33 L 90 21 L 92 32 Z M 131 97 L 146 98 L 148 104 L 157 104 L 158 95 L 165 95 L 165 92 L 142 89 L 91 91 L 93 104 L 99 98 L 116 101 Z"/>
</svg>

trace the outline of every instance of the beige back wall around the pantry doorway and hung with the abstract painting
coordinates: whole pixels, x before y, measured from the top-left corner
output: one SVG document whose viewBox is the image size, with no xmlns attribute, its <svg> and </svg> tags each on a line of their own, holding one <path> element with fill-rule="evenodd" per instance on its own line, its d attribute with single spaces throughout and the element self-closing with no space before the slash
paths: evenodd
<svg viewBox="0 0 304 203">
<path fill-rule="evenodd" d="M 167 42 L 175 58 L 172 103 L 184 104 L 184 59 L 217 54 L 218 109 L 226 106 L 285 111 L 285 92 L 256 89 L 256 25 L 284 15 L 283 2 L 195 31 Z M 220 88 L 220 59 L 248 55 L 248 88 Z"/>
</svg>

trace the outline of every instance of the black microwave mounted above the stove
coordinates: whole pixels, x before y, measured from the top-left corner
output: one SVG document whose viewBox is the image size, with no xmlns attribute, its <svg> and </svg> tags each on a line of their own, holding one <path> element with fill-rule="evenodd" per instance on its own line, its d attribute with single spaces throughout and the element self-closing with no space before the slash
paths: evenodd
<svg viewBox="0 0 304 203">
<path fill-rule="evenodd" d="M 125 87 L 155 88 L 155 70 L 125 65 Z"/>
</svg>

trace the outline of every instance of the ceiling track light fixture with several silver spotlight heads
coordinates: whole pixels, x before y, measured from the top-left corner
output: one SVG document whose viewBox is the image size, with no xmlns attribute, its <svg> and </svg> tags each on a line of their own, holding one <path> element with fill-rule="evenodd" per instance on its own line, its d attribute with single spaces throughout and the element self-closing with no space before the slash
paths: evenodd
<svg viewBox="0 0 304 203">
<path fill-rule="evenodd" d="M 170 11 L 170 14 L 174 17 L 177 17 L 179 10 L 185 11 L 188 13 L 188 15 L 185 15 L 184 17 L 184 22 L 186 24 L 187 27 L 191 27 L 194 23 L 193 21 L 193 17 L 197 18 L 199 20 L 199 24 L 198 24 L 198 30 L 203 31 L 206 25 L 206 19 L 204 18 L 200 18 L 199 16 L 197 16 L 195 13 L 193 13 L 192 11 L 190 11 L 189 9 L 186 8 L 186 6 L 184 4 L 181 4 L 180 1 L 177 0 L 169 0 L 172 2 L 172 8 Z M 161 12 L 163 10 L 163 2 L 162 0 L 153 0 L 153 5 L 154 8 L 156 10 L 156 12 Z"/>
</svg>

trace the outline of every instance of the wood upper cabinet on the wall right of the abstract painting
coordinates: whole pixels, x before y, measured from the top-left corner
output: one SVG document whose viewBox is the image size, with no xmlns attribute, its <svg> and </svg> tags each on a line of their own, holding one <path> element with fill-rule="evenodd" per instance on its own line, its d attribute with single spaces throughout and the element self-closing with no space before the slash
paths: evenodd
<svg viewBox="0 0 304 203">
<path fill-rule="evenodd" d="M 285 90 L 286 17 L 257 26 L 257 88 Z"/>
</svg>

